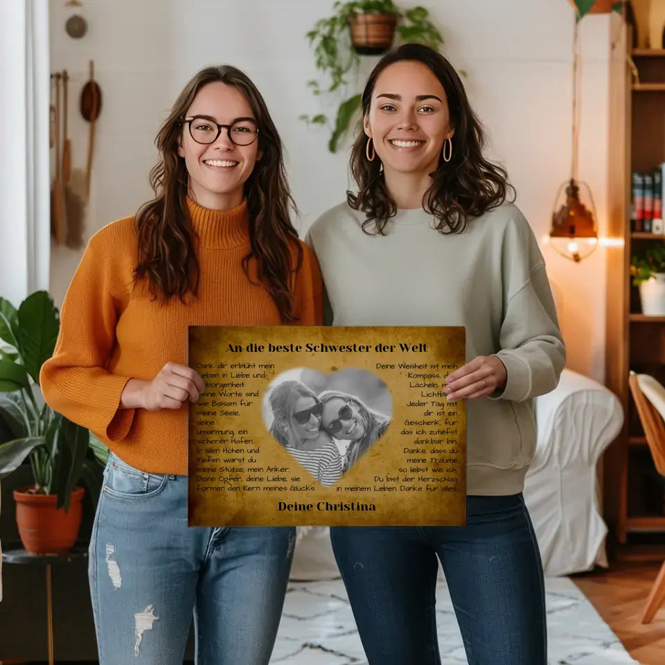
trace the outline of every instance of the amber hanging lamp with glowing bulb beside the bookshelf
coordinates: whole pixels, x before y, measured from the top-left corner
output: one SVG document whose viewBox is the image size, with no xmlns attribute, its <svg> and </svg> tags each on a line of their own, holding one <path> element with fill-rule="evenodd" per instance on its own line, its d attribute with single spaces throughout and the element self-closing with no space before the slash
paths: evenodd
<svg viewBox="0 0 665 665">
<path fill-rule="evenodd" d="M 591 209 L 580 201 L 580 186 L 574 178 L 562 184 L 552 213 L 552 228 L 549 239 L 552 247 L 561 256 L 578 263 L 598 246 L 596 230 L 596 209 L 589 186 L 580 183 L 587 189 Z M 562 191 L 565 187 L 565 197 Z"/>
</svg>

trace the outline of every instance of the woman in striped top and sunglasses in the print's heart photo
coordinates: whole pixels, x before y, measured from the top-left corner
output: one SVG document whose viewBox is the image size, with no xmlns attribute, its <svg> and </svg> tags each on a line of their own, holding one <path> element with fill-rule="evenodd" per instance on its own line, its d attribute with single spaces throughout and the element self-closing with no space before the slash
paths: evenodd
<svg viewBox="0 0 665 665">
<path fill-rule="evenodd" d="M 268 397 L 272 435 L 321 485 L 342 477 L 342 456 L 332 436 L 321 429 L 323 403 L 299 381 L 277 384 Z"/>
</svg>

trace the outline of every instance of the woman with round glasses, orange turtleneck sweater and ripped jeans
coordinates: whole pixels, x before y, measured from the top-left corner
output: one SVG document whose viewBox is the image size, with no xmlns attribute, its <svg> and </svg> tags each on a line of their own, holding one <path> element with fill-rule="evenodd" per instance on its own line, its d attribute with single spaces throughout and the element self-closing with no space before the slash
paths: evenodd
<svg viewBox="0 0 665 665">
<path fill-rule="evenodd" d="M 321 278 L 290 222 L 281 140 L 233 67 L 199 71 L 157 136 L 154 199 L 90 240 L 41 375 L 112 454 L 90 544 L 102 665 L 269 661 L 295 530 L 188 528 L 188 326 L 316 325 Z"/>
</svg>

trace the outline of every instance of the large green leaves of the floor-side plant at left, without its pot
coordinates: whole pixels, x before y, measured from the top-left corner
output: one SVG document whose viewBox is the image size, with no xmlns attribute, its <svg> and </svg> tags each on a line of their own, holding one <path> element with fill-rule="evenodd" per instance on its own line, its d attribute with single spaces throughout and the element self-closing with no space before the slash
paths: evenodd
<svg viewBox="0 0 665 665">
<path fill-rule="evenodd" d="M 57 495 L 57 506 L 67 510 L 79 481 L 97 501 L 108 451 L 42 398 L 39 371 L 53 355 L 59 329 L 60 315 L 48 292 L 31 294 L 18 310 L 0 298 L 0 418 L 15 437 L 0 445 L 0 479 L 29 457 L 31 491 Z"/>
</svg>

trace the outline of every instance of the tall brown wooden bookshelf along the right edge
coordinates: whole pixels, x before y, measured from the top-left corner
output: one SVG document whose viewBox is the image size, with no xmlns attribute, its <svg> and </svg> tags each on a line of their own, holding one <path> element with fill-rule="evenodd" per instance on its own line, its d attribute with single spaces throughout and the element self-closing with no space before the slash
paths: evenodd
<svg viewBox="0 0 665 665">
<path fill-rule="evenodd" d="M 665 383 L 665 317 L 641 313 L 630 278 L 630 257 L 665 241 L 665 234 L 630 228 L 632 174 L 665 162 L 665 49 L 631 50 L 630 28 L 617 21 L 610 54 L 608 236 L 624 242 L 605 250 L 605 376 L 625 418 L 603 458 L 603 512 L 613 540 L 626 551 L 645 534 L 649 542 L 665 544 L 665 493 L 628 389 L 630 370 Z"/>
</svg>

